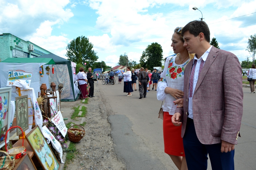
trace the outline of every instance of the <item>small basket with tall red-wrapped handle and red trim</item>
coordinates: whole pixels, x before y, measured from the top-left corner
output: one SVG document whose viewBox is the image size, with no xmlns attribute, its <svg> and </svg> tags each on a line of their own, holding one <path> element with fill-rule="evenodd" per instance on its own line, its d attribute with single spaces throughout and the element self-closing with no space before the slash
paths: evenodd
<svg viewBox="0 0 256 170">
<path fill-rule="evenodd" d="M 13 127 L 11 127 L 10 129 L 8 129 L 6 131 L 6 134 L 5 134 L 5 149 L 6 149 L 6 152 L 10 156 L 13 156 L 15 158 L 15 163 L 18 163 L 20 161 L 20 159 L 26 154 L 26 148 L 23 145 L 24 144 L 24 135 L 23 135 L 23 130 L 20 128 L 21 132 L 22 132 L 22 146 L 11 148 L 8 151 L 7 150 L 7 144 L 6 144 L 6 138 L 7 138 L 8 131 L 11 130 L 12 128 L 20 128 L 20 126 L 13 126 Z"/>
</svg>

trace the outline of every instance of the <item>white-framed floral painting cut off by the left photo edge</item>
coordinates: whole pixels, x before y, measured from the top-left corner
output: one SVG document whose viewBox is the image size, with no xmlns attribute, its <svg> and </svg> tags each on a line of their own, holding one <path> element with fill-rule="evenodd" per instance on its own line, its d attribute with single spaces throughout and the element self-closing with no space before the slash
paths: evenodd
<svg viewBox="0 0 256 170">
<path fill-rule="evenodd" d="M 0 148 L 5 145 L 5 134 L 10 128 L 12 87 L 0 88 Z M 7 134 L 6 143 L 9 142 L 10 132 Z"/>
</svg>

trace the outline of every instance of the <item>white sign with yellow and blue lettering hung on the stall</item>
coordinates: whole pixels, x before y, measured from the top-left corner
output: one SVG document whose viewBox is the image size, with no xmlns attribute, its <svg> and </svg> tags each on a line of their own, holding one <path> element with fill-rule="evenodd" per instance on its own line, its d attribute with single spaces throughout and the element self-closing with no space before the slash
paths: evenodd
<svg viewBox="0 0 256 170">
<path fill-rule="evenodd" d="M 15 80 L 24 80 L 28 87 L 30 87 L 32 73 L 23 71 L 8 71 L 8 80 L 6 86 L 12 86 Z"/>
</svg>

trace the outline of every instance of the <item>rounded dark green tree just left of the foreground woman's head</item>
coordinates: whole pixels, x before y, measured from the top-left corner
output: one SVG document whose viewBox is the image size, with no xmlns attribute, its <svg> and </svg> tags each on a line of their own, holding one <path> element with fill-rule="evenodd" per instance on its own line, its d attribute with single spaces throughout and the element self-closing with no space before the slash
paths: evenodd
<svg viewBox="0 0 256 170">
<path fill-rule="evenodd" d="M 163 49 L 157 42 L 151 43 L 142 52 L 140 57 L 141 67 L 148 68 L 148 70 L 153 70 L 153 67 L 162 67 L 163 60 Z"/>
</svg>

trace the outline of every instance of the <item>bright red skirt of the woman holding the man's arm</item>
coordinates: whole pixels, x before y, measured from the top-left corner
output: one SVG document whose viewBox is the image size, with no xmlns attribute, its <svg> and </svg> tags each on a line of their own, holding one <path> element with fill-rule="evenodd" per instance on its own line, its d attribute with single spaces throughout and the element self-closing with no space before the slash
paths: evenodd
<svg viewBox="0 0 256 170">
<path fill-rule="evenodd" d="M 164 152 L 169 155 L 185 156 L 181 126 L 172 124 L 172 115 L 169 115 L 168 112 L 164 112 L 163 132 Z"/>
</svg>

